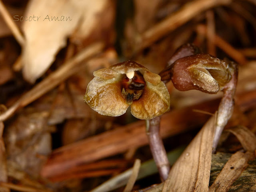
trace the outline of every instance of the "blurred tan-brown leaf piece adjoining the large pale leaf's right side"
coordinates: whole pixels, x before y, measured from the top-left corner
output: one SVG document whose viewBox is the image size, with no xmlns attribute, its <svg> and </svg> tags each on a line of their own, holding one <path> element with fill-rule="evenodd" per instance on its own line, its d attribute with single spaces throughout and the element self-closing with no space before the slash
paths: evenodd
<svg viewBox="0 0 256 192">
<path fill-rule="evenodd" d="M 78 28 L 70 41 L 79 44 L 90 44 L 95 41 L 112 42 L 114 40 L 115 5 L 112 0 L 76 1 L 82 10 Z"/>
</svg>

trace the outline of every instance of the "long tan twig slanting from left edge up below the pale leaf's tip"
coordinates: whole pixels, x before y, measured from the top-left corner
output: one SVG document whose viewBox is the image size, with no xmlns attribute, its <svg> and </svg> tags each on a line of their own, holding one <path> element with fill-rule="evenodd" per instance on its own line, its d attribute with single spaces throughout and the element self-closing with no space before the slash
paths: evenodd
<svg viewBox="0 0 256 192">
<path fill-rule="evenodd" d="M 60 84 L 66 78 L 75 74 L 81 69 L 80 62 L 86 60 L 102 51 L 104 45 L 102 43 L 95 43 L 86 47 L 76 56 L 65 62 L 58 70 L 50 74 L 42 82 L 38 83 L 30 91 L 26 92 L 18 101 L 16 101 L 6 112 L 0 115 L 0 121 L 9 118 L 18 108 L 24 107 L 40 96 L 50 91 L 52 88 Z"/>
</svg>

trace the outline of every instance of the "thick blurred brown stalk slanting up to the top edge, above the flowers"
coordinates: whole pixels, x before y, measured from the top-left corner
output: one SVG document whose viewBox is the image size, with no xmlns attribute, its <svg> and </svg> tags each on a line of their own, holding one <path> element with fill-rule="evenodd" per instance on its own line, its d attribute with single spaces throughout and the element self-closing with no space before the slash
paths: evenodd
<svg viewBox="0 0 256 192">
<path fill-rule="evenodd" d="M 230 4 L 230 2 L 231 0 L 194 0 L 186 3 L 180 10 L 168 16 L 162 22 L 144 32 L 140 38 L 136 39 L 134 53 L 150 46 L 150 44 L 188 22 L 200 12 L 215 6 Z"/>
</svg>

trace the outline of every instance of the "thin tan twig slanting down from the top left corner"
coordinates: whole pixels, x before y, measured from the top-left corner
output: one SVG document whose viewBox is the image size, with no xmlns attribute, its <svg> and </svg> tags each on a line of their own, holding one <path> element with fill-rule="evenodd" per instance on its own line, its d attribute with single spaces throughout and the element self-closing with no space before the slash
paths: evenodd
<svg viewBox="0 0 256 192">
<path fill-rule="evenodd" d="M 0 13 L 2 14 L 6 24 L 12 31 L 12 33 L 13 33 L 14 37 L 16 38 L 16 40 L 18 41 L 18 43 L 21 46 L 23 46 L 25 44 L 25 39 L 24 39 L 23 35 L 21 34 L 18 26 L 12 20 L 12 17 L 10 16 L 8 10 L 4 6 L 2 0 L 0 0 Z"/>
</svg>

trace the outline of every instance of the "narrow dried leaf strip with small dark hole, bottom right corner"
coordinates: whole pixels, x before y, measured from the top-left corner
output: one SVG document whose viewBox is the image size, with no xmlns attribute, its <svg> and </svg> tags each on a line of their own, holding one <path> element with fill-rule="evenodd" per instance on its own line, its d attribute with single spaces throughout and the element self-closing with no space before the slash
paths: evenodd
<svg viewBox="0 0 256 192">
<path fill-rule="evenodd" d="M 240 176 L 252 158 L 252 152 L 236 152 L 228 160 L 208 192 L 227 192 L 233 182 Z"/>
</svg>

